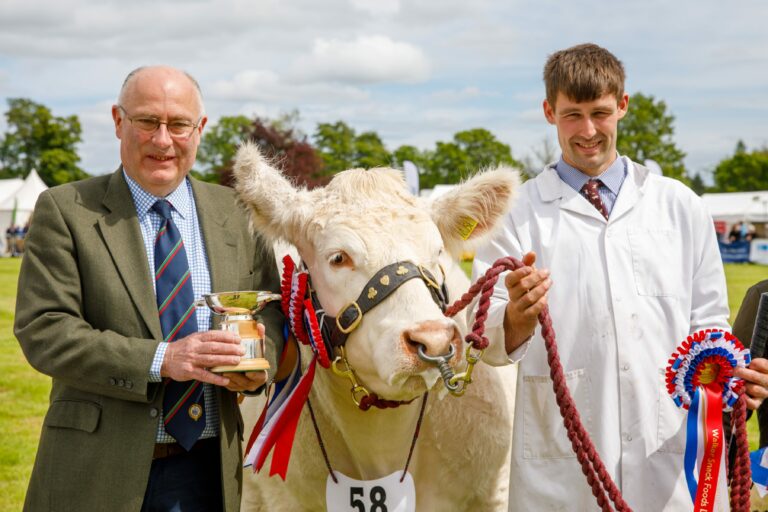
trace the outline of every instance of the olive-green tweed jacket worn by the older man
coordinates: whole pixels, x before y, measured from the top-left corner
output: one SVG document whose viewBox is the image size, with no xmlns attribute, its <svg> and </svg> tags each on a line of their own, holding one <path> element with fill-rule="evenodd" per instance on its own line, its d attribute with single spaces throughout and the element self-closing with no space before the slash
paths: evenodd
<svg viewBox="0 0 768 512">
<path fill-rule="evenodd" d="M 279 292 L 272 249 L 250 234 L 234 192 L 191 183 L 212 291 Z M 267 358 L 276 368 L 283 344 L 279 305 L 271 303 L 261 316 Z M 162 410 L 163 388 L 149 382 L 149 368 L 163 336 L 122 169 L 40 196 L 14 330 L 30 364 L 52 378 L 25 510 L 138 511 Z M 235 511 L 243 420 L 236 393 L 217 387 L 216 396 L 224 510 Z"/>
</svg>

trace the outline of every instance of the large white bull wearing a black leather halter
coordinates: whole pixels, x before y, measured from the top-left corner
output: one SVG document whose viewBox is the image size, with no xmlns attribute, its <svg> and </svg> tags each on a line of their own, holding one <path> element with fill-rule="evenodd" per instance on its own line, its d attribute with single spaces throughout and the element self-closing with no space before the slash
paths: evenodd
<svg viewBox="0 0 768 512">
<path fill-rule="evenodd" d="M 235 177 L 253 227 L 273 242 L 296 247 L 319 302 L 332 316 L 354 301 L 378 270 L 396 261 L 422 265 L 440 281 L 442 265 L 449 300 L 455 301 L 469 286 L 455 257 L 493 230 L 518 180 L 509 169 L 488 171 L 429 202 L 411 196 L 398 171 L 354 169 L 336 175 L 325 188 L 307 191 L 294 188 L 252 145 L 240 149 Z M 473 219 L 477 225 L 470 233 Z M 385 399 L 415 400 L 363 412 L 352 401 L 350 382 L 318 367 L 310 400 L 335 472 L 357 480 L 401 472 L 420 397 L 430 390 L 409 467 L 417 510 L 506 510 L 515 369 L 480 363 L 466 394 L 454 398 L 446 396 L 436 367 L 417 354 L 419 345 L 437 355 L 453 344 L 457 356 L 451 366 L 460 371 L 464 333 L 464 313 L 446 318 L 420 279 L 407 281 L 365 314 L 346 342 L 360 383 Z M 309 353 L 304 355 L 308 360 Z M 258 406 L 253 399 L 243 404 L 246 432 Z M 258 475 L 246 470 L 243 510 L 326 508 L 328 470 L 307 407 L 286 481 L 267 474 L 268 468 Z M 354 492 L 361 491 L 331 508 L 384 510 L 372 501 L 361 508 L 366 503 L 361 500 L 380 497 L 360 494 L 357 499 Z"/>
</svg>

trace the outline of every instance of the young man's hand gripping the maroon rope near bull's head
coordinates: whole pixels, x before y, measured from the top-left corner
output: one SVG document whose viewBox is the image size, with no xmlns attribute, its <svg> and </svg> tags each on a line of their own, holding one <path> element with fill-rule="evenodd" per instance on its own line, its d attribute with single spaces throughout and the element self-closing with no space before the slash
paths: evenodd
<svg viewBox="0 0 768 512">
<path fill-rule="evenodd" d="M 549 270 L 537 270 L 536 253 L 523 256 L 524 267 L 507 274 L 509 302 L 504 312 L 504 341 L 507 354 L 533 335 L 539 313 L 547 305 L 547 291 L 552 286 Z"/>
</svg>

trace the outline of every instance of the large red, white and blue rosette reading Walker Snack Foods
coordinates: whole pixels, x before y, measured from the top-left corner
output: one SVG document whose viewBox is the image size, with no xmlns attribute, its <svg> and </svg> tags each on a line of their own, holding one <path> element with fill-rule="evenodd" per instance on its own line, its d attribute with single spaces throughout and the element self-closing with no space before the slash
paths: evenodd
<svg viewBox="0 0 768 512">
<path fill-rule="evenodd" d="M 735 336 L 709 329 L 688 336 L 669 360 L 667 391 L 688 410 L 683 465 L 696 511 L 728 507 L 722 412 L 732 410 L 743 392 L 734 369 L 749 362 Z"/>
</svg>

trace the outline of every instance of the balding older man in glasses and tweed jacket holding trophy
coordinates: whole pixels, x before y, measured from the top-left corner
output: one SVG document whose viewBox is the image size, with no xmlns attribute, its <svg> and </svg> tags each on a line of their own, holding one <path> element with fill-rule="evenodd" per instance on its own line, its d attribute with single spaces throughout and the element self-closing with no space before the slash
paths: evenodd
<svg viewBox="0 0 768 512">
<path fill-rule="evenodd" d="M 243 349 L 194 302 L 279 292 L 272 249 L 233 190 L 188 176 L 207 121 L 190 75 L 134 70 L 112 118 L 120 167 L 43 192 L 27 238 L 14 330 L 53 386 L 24 509 L 236 511 L 238 392 L 268 375 L 210 372 Z M 284 319 L 261 315 L 276 368 Z"/>
</svg>

